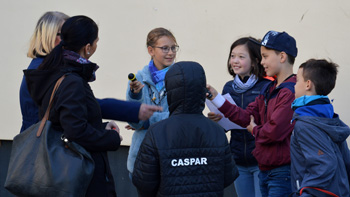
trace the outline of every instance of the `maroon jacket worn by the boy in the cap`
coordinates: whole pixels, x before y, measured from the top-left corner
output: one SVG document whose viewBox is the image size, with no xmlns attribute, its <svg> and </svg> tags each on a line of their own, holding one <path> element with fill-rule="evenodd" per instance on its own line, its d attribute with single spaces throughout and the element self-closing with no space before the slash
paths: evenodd
<svg viewBox="0 0 350 197">
<path fill-rule="evenodd" d="M 294 123 L 291 123 L 291 104 L 295 99 L 295 82 L 295 75 L 287 78 L 278 87 L 276 81 L 272 81 L 245 110 L 231 105 L 227 100 L 219 108 L 225 117 L 242 127 L 249 125 L 250 115 L 254 116 L 258 126 L 253 129 L 253 155 L 260 170 L 271 170 L 290 164 L 290 136 L 294 128 Z"/>
</svg>

